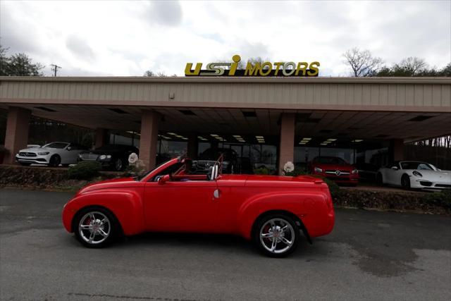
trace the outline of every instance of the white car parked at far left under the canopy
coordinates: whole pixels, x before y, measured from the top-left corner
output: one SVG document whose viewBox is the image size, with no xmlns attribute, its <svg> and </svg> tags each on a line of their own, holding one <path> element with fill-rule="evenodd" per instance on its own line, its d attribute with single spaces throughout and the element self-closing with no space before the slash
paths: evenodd
<svg viewBox="0 0 451 301">
<path fill-rule="evenodd" d="M 42 147 L 20 149 L 16 154 L 19 164 L 28 166 L 30 164 L 44 164 L 48 166 L 69 166 L 76 164 L 78 154 L 87 150 L 87 147 L 70 142 L 51 142 Z"/>
</svg>

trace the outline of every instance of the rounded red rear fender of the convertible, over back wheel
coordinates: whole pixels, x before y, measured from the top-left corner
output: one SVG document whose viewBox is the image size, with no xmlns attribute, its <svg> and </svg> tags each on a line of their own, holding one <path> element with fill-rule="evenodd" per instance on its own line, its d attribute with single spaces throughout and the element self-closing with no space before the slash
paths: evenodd
<svg viewBox="0 0 451 301">
<path fill-rule="evenodd" d="M 299 217 L 311 237 L 316 236 L 317 231 L 314 225 L 310 225 L 309 221 L 314 221 L 314 216 L 317 214 L 326 214 L 326 211 L 329 211 L 327 196 L 323 194 L 307 194 L 305 192 L 301 194 L 299 191 L 286 191 L 283 193 L 274 192 L 271 194 L 257 195 L 242 204 L 238 211 L 240 235 L 250 239 L 252 226 L 257 218 L 261 214 L 273 210 L 288 211 Z M 305 221 L 307 221 L 307 224 Z M 311 232 L 313 232 L 313 235 Z"/>
</svg>

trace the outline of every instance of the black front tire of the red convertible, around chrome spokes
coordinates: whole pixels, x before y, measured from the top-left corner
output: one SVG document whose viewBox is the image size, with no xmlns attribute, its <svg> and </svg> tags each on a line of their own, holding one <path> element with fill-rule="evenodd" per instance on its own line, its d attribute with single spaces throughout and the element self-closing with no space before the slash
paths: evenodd
<svg viewBox="0 0 451 301">
<path fill-rule="evenodd" d="M 94 214 L 95 221 L 89 216 L 89 214 Z M 104 222 L 103 225 L 96 224 L 99 223 L 101 219 L 104 221 L 103 217 L 106 217 L 108 219 L 107 222 Z M 89 222 L 87 219 L 89 219 L 91 222 Z M 80 229 L 82 222 L 85 225 L 98 226 L 98 228 L 101 228 L 102 231 L 104 231 L 104 233 L 108 233 L 108 235 L 106 235 L 106 238 L 104 240 L 101 240 L 105 236 L 101 235 L 100 232 L 94 233 L 92 242 L 89 242 L 92 231 L 89 229 Z M 106 247 L 110 245 L 111 242 L 116 241 L 122 236 L 122 230 L 118 219 L 116 219 L 116 216 L 114 216 L 111 211 L 105 209 L 104 207 L 87 207 L 78 211 L 73 219 L 72 228 L 73 232 L 75 233 L 75 238 L 77 238 L 77 240 L 81 242 L 82 245 L 90 248 Z"/>
</svg>

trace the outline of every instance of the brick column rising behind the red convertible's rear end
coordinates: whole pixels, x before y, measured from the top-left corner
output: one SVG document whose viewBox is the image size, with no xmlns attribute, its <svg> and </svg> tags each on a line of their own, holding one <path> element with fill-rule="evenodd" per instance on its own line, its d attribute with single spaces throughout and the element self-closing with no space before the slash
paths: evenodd
<svg viewBox="0 0 451 301">
<path fill-rule="evenodd" d="M 295 113 L 282 113 L 280 116 L 279 174 L 288 161 L 295 159 Z"/>
</svg>

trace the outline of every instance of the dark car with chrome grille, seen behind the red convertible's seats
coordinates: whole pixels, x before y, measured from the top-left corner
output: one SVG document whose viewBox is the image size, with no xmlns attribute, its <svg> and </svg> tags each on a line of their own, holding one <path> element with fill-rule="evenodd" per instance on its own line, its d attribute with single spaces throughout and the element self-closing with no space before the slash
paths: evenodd
<svg viewBox="0 0 451 301">
<path fill-rule="evenodd" d="M 240 163 L 238 154 L 234 149 L 221 147 L 211 147 L 206 149 L 193 165 L 197 168 L 197 173 L 208 173 L 210 166 L 213 166 L 216 160 L 223 155 L 223 173 L 240 173 Z"/>
</svg>

